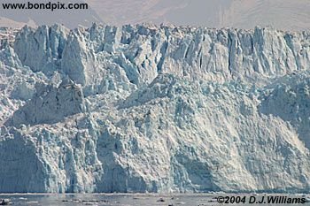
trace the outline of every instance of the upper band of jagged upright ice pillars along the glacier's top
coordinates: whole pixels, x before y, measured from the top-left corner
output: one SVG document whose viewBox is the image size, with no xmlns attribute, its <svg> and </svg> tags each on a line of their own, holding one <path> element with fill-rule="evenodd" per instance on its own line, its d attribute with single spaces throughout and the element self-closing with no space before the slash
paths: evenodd
<svg viewBox="0 0 310 206">
<path fill-rule="evenodd" d="M 14 50 L 33 71 L 44 71 L 45 65 L 61 60 L 59 70 L 82 85 L 91 84 L 94 73 L 102 80 L 98 67 L 103 64 L 120 66 L 128 80 L 143 85 L 162 72 L 190 80 L 225 81 L 275 77 L 306 70 L 310 63 L 308 32 L 96 24 L 69 34 L 65 30 L 26 27 Z"/>
</svg>

